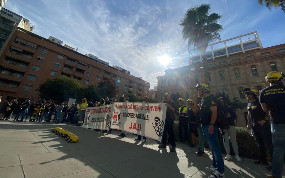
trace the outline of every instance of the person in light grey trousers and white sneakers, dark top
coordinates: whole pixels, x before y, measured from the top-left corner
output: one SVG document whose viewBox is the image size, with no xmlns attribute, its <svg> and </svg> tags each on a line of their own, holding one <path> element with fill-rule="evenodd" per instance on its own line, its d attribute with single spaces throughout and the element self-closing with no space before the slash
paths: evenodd
<svg viewBox="0 0 285 178">
<path fill-rule="evenodd" d="M 230 160 L 232 159 L 232 156 L 230 154 L 230 149 L 229 149 L 229 140 L 232 143 L 232 148 L 235 152 L 235 159 L 239 162 L 241 162 L 241 158 L 238 155 L 238 144 L 236 142 L 236 136 L 235 136 L 235 119 L 236 119 L 236 114 L 235 112 L 232 110 L 231 107 L 228 106 L 228 104 L 226 103 L 225 99 L 220 97 L 219 98 L 221 104 L 223 105 L 223 109 L 225 110 L 225 117 L 227 119 L 227 122 L 229 124 L 229 128 L 228 129 L 224 129 L 223 132 L 223 144 L 225 146 L 226 149 L 226 157 L 224 158 L 225 160 Z"/>
</svg>

